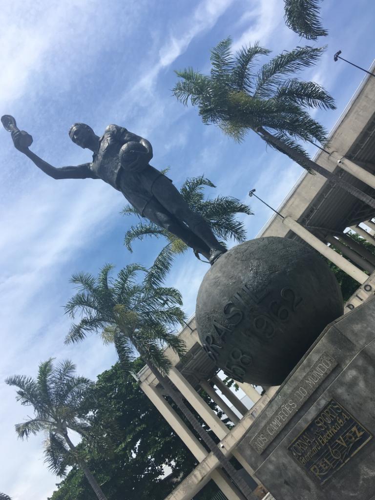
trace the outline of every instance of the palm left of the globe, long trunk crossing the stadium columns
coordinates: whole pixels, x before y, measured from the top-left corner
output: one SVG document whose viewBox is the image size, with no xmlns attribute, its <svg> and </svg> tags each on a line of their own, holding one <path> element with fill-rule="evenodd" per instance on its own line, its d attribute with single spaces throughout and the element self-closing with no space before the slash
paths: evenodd
<svg viewBox="0 0 375 500">
<path fill-rule="evenodd" d="M 148 271 L 139 264 L 128 264 L 115 279 L 109 274 L 111 269 L 111 265 L 105 265 L 97 277 L 87 273 L 72 276 L 71 282 L 77 285 L 78 291 L 67 302 L 65 312 L 71 318 L 79 314 L 81 319 L 72 324 L 65 343 L 80 341 L 88 332 L 100 333 L 105 342 L 114 342 L 124 370 L 130 369 L 135 348 L 244 496 L 253 498 L 247 483 L 201 427 L 166 376 L 171 364 L 162 346 L 171 347 L 179 357 L 185 353 L 183 341 L 169 331 L 184 319 L 179 307 L 182 305 L 179 291 L 162 286 L 165 269 L 160 268 L 160 262 Z M 136 279 L 138 272 L 144 273 L 141 282 Z"/>
</svg>

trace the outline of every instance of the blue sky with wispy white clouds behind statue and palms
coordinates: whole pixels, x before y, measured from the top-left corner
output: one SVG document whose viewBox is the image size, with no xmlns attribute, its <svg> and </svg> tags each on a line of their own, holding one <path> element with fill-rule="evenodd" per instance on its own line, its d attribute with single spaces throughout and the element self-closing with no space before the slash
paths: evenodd
<svg viewBox="0 0 375 500">
<path fill-rule="evenodd" d="M 170 167 L 179 186 L 187 176 L 205 174 L 216 185 L 210 194 L 248 201 L 257 193 L 277 206 L 301 169 L 249 135 L 236 144 L 200 122 L 170 89 L 174 69 L 208 69 L 209 50 L 232 36 L 233 47 L 260 40 L 273 53 L 307 44 L 283 24 L 281 0 L 16 0 L 0 10 L 0 114 L 10 113 L 32 134 L 31 150 L 54 166 L 90 160 L 67 131 L 74 121 L 100 135 L 109 123 L 150 140 L 156 168 Z M 324 1 L 329 36 L 319 64 L 303 75 L 323 84 L 337 110 L 316 113 L 329 129 L 364 73 L 333 53 L 367 68 L 375 54 L 375 3 Z M 311 44 L 311 42 L 310 42 Z M 122 195 L 100 180 L 53 180 L 16 151 L 0 130 L 0 491 L 14 500 L 45 500 L 57 478 L 43 465 L 42 436 L 16 439 L 13 425 L 27 415 L 2 380 L 13 373 L 34 375 L 39 361 L 71 358 L 81 374 L 94 378 L 115 360 L 113 349 L 91 337 L 63 345 L 69 321 L 62 305 L 73 292 L 74 271 L 96 273 L 106 262 L 119 269 L 131 261 L 149 264 L 160 242 L 122 245 L 134 223 L 119 212 Z M 271 213 L 251 200 L 255 213 L 244 219 L 253 237 Z M 192 254 L 178 258 L 168 278 L 181 290 L 188 314 L 206 264 Z"/>
</svg>

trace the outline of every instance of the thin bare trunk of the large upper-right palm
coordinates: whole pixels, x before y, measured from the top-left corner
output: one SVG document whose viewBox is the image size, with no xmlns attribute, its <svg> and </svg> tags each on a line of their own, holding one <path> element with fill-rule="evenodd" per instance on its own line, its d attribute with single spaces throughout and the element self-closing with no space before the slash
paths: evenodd
<svg viewBox="0 0 375 500">
<path fill-rule="evenodd" d="M 284 144 L 282 140 L 278 139 L 271 133 L 267 132 L 267 130 L 264 130 L 263 127 L 258 127 L 256 131 L 263 136 L 263 138 L 269 142 L 270 144 L 273 144 L 274 146 L 277 146 L 278 149 L 283 151 L 285 154 L 287 154 L 289 157 L 293 158 L 296 162 L 305 164 L 311 170 L 314 170 L 315 172 L 320 173 L 323 177 L 326 179 L 330 180 L 332 183 L 338 185 L 342 189 L 345 189 L 345 191 L 349 192 L 356 198 L 360 199 L 367 205 L 371 206 L 372 208 L 375 208 L 375 199 L 369 196 L 368 194 L 364 193 L 357 187 L 354 187 L 353 185 L 349 184 L 349 182 L 345 182 L 342 180 L 340 177 L 335 175 L 334 173 L 329 172 L 322 166 L 318 165 L 314 161 L 306 158 L 303 154 L 298 153 L 288 145 Z"/>
</svg>

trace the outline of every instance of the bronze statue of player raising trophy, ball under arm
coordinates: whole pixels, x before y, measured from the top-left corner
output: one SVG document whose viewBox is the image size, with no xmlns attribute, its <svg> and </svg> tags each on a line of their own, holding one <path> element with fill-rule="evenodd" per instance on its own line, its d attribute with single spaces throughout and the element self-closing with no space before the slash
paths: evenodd
<svg viewBox="0 0 375 500">
<path fill-rule="evenodd" d="M 118 125 L 108 125 L 99 137 L 85 123 L 74 123 L 69 136 L 75 144 L 93 152 L 92 161 L 56 168 L 28 149 L 32 138 L 30 142 L 27 138 L 31 136 L 25 137 L 26 132 L 15 127 L 12 116 L 4 115 L 3 124 L 11 131 L 14 146 L 47 175 L 55 179 L 100 178 L 122 192 L 142 216 L 182 239 L 211 263 L 225 251 L 171 180 L 149 164 L 152 146 L 147 139 Z"/>
</svg>

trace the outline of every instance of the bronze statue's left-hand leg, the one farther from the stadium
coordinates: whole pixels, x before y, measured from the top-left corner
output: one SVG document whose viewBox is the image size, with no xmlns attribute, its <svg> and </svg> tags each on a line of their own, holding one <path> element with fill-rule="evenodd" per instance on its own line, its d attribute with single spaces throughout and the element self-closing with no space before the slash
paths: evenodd
<svg viewBox="0 0 375 500">
<path fill-rule="evenodd" d="M 181 239 L 187 246 L 209 258 L 210 248 L 183 222 L 177 220 L 157 199 L 152 197 L 143 208 L 142 215 Z"/>
</svg>

